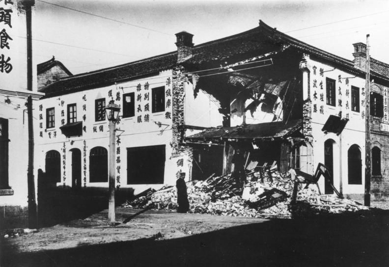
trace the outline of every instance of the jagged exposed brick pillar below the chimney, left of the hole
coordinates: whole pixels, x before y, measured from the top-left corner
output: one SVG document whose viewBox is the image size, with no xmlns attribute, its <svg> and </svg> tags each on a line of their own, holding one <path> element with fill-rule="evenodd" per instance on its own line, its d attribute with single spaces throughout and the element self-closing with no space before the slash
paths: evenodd
<svg viewBox="0 0 389 267">
<path fill-rule="evenodd" d="M 179 143 L 184 138 L 184 67 L 177 66 L 173 69 L 172 79 L 172 154 L 177 154 L 180 150 Z"/>
</svg>

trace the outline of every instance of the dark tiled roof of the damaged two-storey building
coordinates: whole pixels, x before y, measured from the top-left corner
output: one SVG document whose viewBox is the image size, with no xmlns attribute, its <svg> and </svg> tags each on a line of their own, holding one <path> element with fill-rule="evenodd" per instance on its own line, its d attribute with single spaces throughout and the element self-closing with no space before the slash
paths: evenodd
<svg viewBox="0 0 389 267">
<path fill-rule="evenodd" d="M 249 54 L 261 53 L 271 46 L 282 47 L 285 45 L 301 53 L 309 53 L 311 56 L 332 62 L 355 75 L 364 75 L 363 70 L 354 67 L 353 61 L 310 46 L 275 28 L 269 27 L 262 21 L 260 21 L 258 27 L 248 31 L 196 45 L 193 49 L 193 56 L 184 61 L 183 64 L 186 66 L 203 64 L 220 66 L 225 61 L 230 64 L 234 63 L 234 60 L 245 59 L 245 56 Z M 115 82 L 158 73 L 159 71 L 170 69 L 176 64 L 177 52 L 175 51 L 115 67 L 74 75 L 73 77 L 58 80 L 44 87 L 41 91 L 46 93 L 46 97 L 50 97 L 109 86 Z M 372 72 L 372 75 L 379 74 Z M 381 78 L 389 81 L 385 77 Z"/>
</svg>

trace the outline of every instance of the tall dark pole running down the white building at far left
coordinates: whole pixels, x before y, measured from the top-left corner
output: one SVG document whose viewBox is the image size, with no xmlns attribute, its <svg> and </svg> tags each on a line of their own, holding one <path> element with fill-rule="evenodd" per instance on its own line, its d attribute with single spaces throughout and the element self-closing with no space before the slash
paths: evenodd
<svg viewBox="0 0 389 267">
<path fill-rule="evenodd" d="M 27 25 L 27 90 L 32 91 L 32 6 L 34 0 L 26 0 L 24 2 L 26 8 L 26 25 Z M 32 97 L 27 99 L 27 114 L 28 114 L 28 171 L 27 171 L 27 187 L 28 187 L 28 227 L 37 227 L 36 218 L 36 199 L 35 199 L 35 181 L 34 181 L 34 128 L 32 117 Z"/>
</svg>

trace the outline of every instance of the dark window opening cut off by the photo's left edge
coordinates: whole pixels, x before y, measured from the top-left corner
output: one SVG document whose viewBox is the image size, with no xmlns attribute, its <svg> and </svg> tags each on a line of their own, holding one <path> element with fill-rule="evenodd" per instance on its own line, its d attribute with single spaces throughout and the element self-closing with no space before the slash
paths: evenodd
<svg viewBox="0 0 389 267">
<path fill-rule="evenodd" d="M 8 120 L 0 118 L 0 189 L 8 185 Z"/>
</svg>

